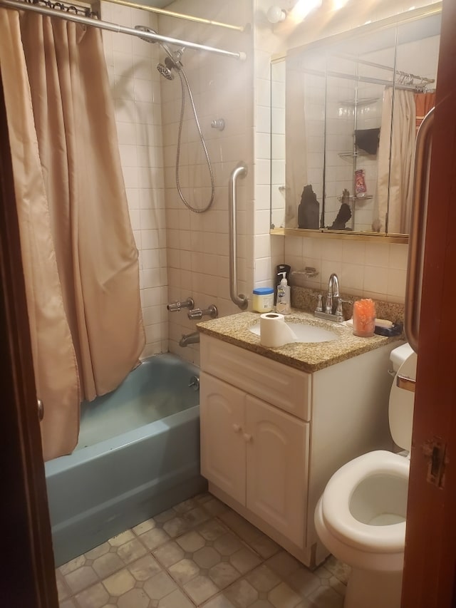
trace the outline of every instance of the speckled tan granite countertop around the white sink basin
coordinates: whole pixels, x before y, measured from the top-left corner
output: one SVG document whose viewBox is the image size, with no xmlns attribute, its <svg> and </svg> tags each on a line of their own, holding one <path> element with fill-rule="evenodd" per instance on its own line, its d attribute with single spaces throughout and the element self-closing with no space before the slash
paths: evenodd
<svg viewBox="0 0 456 608">
<path fill-rule="evenodd" d="M 259 336 L 249 331 L 251 326 L 259 324 L 259 317 L 259 313 L 240 312 L 222 316 L 219 319 L 202 321 L 197 324 L 197 329 L 207 336 L 213 336 L 229 342 L 229 344 L 240 346 L 242 349 L 310 373 L 351 359 L 353 356 L 373 351 L 392 341 L 403 340 L 403 336 L 387 338 L 375 335 L 372 338 L 358 338 L 353 336 L 352 328 L 345 324 L 316 319 L 308 312 L 292 309 L 291 314 L 286 316 L 286 321 L 331 329 L 338 335 L 338 338 L 328 342 L 294 342 L 272 349 L 261 346 Z"/>
</svg>

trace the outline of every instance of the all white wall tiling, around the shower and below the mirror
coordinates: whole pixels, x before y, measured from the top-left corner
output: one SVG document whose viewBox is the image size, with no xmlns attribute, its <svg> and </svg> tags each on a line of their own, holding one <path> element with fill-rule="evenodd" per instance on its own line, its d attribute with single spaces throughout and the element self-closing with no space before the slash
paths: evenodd
<svg viewBox="0 0 456 608">
<path fill-rule="evenodd" d="M 390 13 L 406 10 L 411 3 L 404 0 L 400 6 L 382 9 L 382 14 L 379 10 L 351 11 L 334 22 L 320 13 L 309 21 L 310 29 L 306 30 L 304 24 L 293 26 L 292 31 L 287 22 L 269 24 L 265 15 L 270 4 L 270 0 L 229 3 L 177 0 L 170 5 L 175 11 L 209 19 L 238 25 L 252 23 L 254 29 L 249 34 L 157 18 L 139 9 L 102 3 L 102 17 L 106 21 L 124 26 L 143 24 L 162 34 L 247 53 L 247 61 L 239 62 L 185 51 L 183 63 L 212 158 L 216 184 L 212 209 L 205 214 L 193 214 L 182 205 L 175 187 L 180 82 L 177 78 L 165 81 L 156 71 L 157 61 L 163 58 L 159 46 L 103 32 L 130 217 L 140 250 L 140 287 L 147 334 L 144 356 L 169 348 L 198 361 L 197 347 L 178 346 L 181 334 L 194 331 L 195 323 L 188 321 L 185 311 L 168 315 L 166 303 L 170 300 L 192 295 L 202 308 L 217 304 L 221 316 L 237 311 L 229 300 L 227 183 L 239 160 L 246 161 L 249 167 L 249 175 L 239 183 L 238 192 L 238 272 L 242 279 L 239 291 L 249 294 L 254 286 L 271 284 L 276 264 L 288 262 L 294 268 L 316 267 L 320 274 L 309 282 L 313 287 L 323 288 L 328 273 L 336 271 L 341 274 L 341 287 L 345 291 L 403 301 L 405 245 L 342 241 L 336 244 L 322 239 L 269 235 L 269 64 L 272 55 L 304 40 L 350 29 L 367 19 L 379 19 L 386 10 Z M 418 0 L 414 4 L 427 2 Z M 226 121 L 224 131 L 210 128 L 216 118 Z M 209 184 L 190 124 L 191 121 L 185 121 L 182 134 L 181 181 L 185 194 L 202 204 L 207 200 Z M 284 148 L 283 140 L 276 143 Z M 315 145 L 318 150 L 316 141 Z M 341 172 L 336 176 L 339 181 L 344 179 Z M 316 180 L 316 176 L 309 175 L 309 180 Z M 276 196 L 279 205 L 279 192 Z"/>
</svg>

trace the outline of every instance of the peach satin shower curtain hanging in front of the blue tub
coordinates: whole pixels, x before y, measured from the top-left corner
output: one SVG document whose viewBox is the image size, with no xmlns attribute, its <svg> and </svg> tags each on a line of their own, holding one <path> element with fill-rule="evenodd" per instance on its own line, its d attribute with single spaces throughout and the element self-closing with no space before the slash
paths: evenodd
<svg viewBox="0 0 456 608">
<path fill-rule="evenodd" d="M 138 250 L 100 31 L 1 9 L 0 73 L 48 460 L 138 364 Z"/>
</svg>

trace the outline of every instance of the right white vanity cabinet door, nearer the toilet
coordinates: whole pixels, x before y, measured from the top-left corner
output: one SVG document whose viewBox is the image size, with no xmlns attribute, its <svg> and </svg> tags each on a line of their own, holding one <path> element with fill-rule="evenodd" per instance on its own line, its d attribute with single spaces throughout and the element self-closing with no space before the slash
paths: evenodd
<svg viewBox="0 0 456 608">
<path fill-rule="evenodd" d="M 247 507 L 304 547 L 309 423 L 247 396 Z"/>
</svg>

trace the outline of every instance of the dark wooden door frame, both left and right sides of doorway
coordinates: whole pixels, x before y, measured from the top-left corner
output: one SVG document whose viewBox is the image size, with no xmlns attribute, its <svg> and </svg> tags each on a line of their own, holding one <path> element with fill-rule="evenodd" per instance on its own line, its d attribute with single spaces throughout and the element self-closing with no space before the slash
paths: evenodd
<svg viewBox="0 0 456 608">
<path fill-rule="evenodd" d="M 410 469 L 403 608 L 455 605 L 456 552 L 456 2 L 444 0 L 429 246 L 423 281 L 420 356 Z M 445 61 L 442 60 L 445 57 Z M 454 202 L 452 205 L 451 203 Z M 2 560 L 0 605 L 57 608 L 46 481 L 36 413 L 30 336 L 3 91 L 0 88 L 0 353 L 3 396 L 4 495 L 8 552 Z M 46 404 L 45 404 L 46 406 Z M 443 488 L 426 482 L 423 445 L 448 446 Z"/>
</svg>

